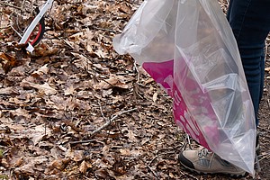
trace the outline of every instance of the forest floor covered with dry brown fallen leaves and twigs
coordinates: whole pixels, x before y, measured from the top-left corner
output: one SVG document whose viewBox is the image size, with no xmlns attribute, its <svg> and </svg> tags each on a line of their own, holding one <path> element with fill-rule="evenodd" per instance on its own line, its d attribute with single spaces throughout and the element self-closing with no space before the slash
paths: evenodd
<svg viewBox="0 0 270 180">
<path fill-rule="evenodd" d="M 229 179 L 179 165 L 189 146 L 171 98 L 112 48 L 141 1 L 55 1 L 31 55 L 16 44 L 31 20 L 22 2 L 34 1 L 0 3 L 0 179 Z M 268 46 L 256 179 L 270 176 Z"/>
</svg>

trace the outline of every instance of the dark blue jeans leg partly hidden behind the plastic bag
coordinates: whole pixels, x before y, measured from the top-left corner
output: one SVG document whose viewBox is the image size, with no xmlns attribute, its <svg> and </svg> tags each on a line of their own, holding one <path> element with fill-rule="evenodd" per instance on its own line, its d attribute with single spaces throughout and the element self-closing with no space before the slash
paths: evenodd
<svg viewBox="0 0 270 180">
<path fill-rule="evenodd" d="M 256 113 L 264 90 L 265 40 L 270 31 L 270 0 L 230 0 L 227 19 L 238 42 Z"/>
</svg>

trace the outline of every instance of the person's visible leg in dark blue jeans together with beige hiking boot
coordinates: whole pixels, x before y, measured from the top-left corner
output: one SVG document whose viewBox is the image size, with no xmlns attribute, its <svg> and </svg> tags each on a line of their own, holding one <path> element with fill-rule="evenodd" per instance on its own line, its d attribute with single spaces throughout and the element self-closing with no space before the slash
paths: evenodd
<svg viewBox="0 0 270 180">
<path fill-rule="evenodd" d="M 270 0 L 230 0 L 228 20 L 238 42 L 247 85 L 257 115 L 264 88 L 265 40 L 270 30 Z M 258 123 L 258 121 L 257 121 Z M 216 154 L 202 150 L 184 150 L 180 163 L 198 173 L 245 175 Z"/>
</svg>

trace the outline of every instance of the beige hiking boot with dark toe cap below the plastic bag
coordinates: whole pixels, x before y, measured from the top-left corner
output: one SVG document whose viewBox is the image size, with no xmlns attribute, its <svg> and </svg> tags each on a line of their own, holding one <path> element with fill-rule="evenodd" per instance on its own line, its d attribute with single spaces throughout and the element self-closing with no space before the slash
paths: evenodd
<svg viewBox="0 0 270 180">
<path fill-rule="evenodd" d="M 180 163 L 198 174 L 226 174 L 233 177 L 246 176 L 247 172 L 220 158 L 207 148 L 184 150 L 179 154 Z"/>
</svg>

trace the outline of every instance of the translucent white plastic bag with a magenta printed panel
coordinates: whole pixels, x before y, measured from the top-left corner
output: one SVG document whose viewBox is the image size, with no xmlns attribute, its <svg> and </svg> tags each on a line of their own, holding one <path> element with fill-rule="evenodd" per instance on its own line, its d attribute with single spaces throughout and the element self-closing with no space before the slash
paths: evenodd
<svg viewBox="0 0 270 180">
<path fill-rule="evenodd" d="M 254 175 L 255 113 L 217 1 L 144 1 L 113 46 L 173 97 L 175 122 L 193 139 Z"/>
</svg>

